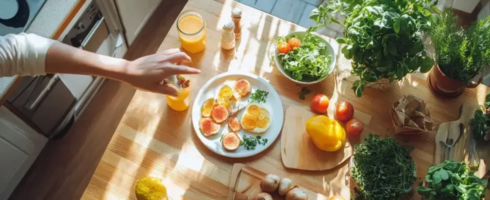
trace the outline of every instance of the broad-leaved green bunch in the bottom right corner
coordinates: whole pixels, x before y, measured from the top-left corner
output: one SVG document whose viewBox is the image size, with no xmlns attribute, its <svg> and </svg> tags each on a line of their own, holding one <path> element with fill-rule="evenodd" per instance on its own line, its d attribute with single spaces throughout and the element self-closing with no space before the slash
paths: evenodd
<svg viewBox="0 0 490 200">
<path fill-rule="evenodd" d="M 480 200 L 485 195 L 485 179 L 478 178 L 464 162 L 445 160 L 428 168 L 417 192 L 427 200 Z"/>
</svg>

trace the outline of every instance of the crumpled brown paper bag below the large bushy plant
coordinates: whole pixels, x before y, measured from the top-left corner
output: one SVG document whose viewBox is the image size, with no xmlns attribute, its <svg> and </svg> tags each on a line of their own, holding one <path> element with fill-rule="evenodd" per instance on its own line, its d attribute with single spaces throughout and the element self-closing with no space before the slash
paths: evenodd
<svg viewBox="0 0 490 200">
<path fill-rule="evenodd" d="M 391 107 L 391 122 L 397 134 L 423 133 L 433 128 L 428 106 L 423 99 L 405 94 Z"/>
</svg>

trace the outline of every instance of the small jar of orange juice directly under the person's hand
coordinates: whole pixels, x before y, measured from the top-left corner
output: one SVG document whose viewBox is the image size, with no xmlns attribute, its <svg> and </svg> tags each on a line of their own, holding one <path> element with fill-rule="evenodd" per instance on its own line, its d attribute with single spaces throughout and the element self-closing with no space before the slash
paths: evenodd
<svg viewBox="0 0 490 200">
<path fill-rule="evenodd" d="M 177 75 L 178 84 L 182 90 L 178 90 L 175 85 L 168 84 L 168 86 L 177 89 L 177 96 L 166 96 L 166 102 L 170 108 L 176 111 L 186 110 L 190 104 L 190 80 L 185 79 L 181 75 Z"/>
</svg>

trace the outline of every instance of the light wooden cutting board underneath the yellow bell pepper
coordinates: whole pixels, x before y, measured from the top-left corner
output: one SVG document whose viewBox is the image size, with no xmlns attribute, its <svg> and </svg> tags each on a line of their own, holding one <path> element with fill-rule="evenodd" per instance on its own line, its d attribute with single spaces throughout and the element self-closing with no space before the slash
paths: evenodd
<svg viewBox="0 0 490 200">
<path fill-rule="evenodd" d="M 326 170 L 339 165 L 352 155 L 353 149 L 347 138 L 345 145 L 335 152 L 316 147 L 304 125 L 306 120 L 316 115 L 298 106 L 287 108 L 280 138 L 280 154 L 285 167 Z"/>
</svg>

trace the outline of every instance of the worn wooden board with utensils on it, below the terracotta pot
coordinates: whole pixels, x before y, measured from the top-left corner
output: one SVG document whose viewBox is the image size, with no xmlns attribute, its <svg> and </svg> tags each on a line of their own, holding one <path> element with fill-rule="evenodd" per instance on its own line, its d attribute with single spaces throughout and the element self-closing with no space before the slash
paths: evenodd
<svg viewBox="0 0 490 200">
<path fill-rule="evenodd" d="M 486 164 L 483 159 L 480 159 L 479 155 L 482 150 L 476 149 L 476 143 L 473 139 L 473 133 L 469 127 L 469 119 L 474 117 L 474 111 L 478 109 L 468 104 L 462 104 L 459 114 L 459 119 L 455 121 L 444 122 L 439 125 L 437 132 L 435 133 L 435 151 L 434 160 L 432 164 L 442 163 L 446 159 L 453 159 L 456 161 L 464 161 L 470 165 L 479 163 L 478 171 L 476 175 L 482 177 L 486 172 Z M 462 132 L 461 137 L 451 147 L 450 156 L 443 155 L 443 149 L 445 148 L 444 141 L 446 135 L 459 135 Z M 486 150 L 488 151 L 488 150 Z M 488 152 L 490 153 L 490 152 Z M 483 153 L 484 154 L 484 153 Z"/>
</svg>

